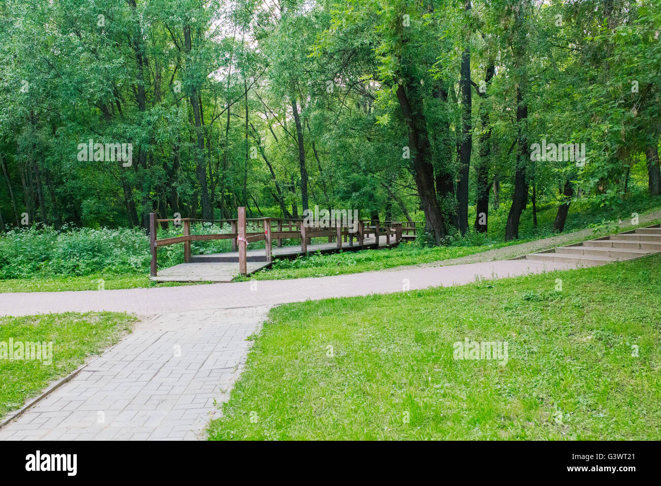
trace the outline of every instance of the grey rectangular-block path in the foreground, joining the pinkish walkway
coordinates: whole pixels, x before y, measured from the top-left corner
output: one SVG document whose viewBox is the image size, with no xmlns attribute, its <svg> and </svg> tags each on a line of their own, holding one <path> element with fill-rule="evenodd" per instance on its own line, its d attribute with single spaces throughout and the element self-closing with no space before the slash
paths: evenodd
<svg viewBox="0 0 661 486">
<path fill-rule="evenodd" d="M 0 428 L 0 440 L 195 440 L 268 307 L 166 314 Z"/>
</svg>

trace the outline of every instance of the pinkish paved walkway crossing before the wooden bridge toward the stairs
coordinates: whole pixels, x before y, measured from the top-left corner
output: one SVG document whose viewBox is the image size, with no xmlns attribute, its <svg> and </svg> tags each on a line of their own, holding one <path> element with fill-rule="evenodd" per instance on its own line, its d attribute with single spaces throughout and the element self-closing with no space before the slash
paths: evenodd
<svg viewBox="0 0 661 486">
<path fill-rule="evenodd" d="M 122 290 L 76 292 L 17 292 L 0 294 L 0 315 L 31 315 L 66 311 L 127 311 L 154 315 L 199 309 L 231 309 L 276 305 L 332 297 L 364 296 L 427 287 L 463 285 L 475 278 L 503 278 L 545 270 L 569 268 L 566 264 L 500 261 L 452 266 L 407 266 L 391 270 L 291 280 L 258 280 Z"/>
</svg>

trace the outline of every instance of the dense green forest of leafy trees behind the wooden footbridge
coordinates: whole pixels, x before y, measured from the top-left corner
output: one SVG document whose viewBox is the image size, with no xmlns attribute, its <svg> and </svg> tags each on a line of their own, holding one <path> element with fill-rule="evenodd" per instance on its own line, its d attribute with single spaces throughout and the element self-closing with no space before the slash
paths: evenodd
<svg viewBox="0 0 661 486">
<path fill-rule="evenodd" d="M 2 0 L 0 230 L 316 205 L 438 245 L 549 202 L 562 230 L 661 192 L 660 7 Z"/>
</svg>

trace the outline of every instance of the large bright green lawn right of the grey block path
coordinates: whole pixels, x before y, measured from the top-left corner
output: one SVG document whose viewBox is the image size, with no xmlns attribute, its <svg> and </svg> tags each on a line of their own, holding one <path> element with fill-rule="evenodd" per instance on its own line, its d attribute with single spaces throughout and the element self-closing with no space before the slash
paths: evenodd
<svg viewBox="0 0 661 486">
<path fill-rule="evenodd" d="M 659 440 L 660 288 L 655 256 L 281 305 L 209 436 Z M 455 360 L 465 338 L 506 364 Z"/>
</svg>

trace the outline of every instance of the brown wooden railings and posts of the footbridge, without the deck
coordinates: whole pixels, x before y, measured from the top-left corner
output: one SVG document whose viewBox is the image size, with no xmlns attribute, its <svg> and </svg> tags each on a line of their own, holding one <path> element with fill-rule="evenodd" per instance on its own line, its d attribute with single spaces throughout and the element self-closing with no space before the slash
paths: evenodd
<svg viewBox="0 0 661 486">
<path fill-rule="evenodd" d="M 312 238 L 328 237 L 329 243 L 335 238 L 336 247 L 342 248 L 342 239 L 349 246 L 354 246 L 354 238 L 358 247 L 379 247 L 379 236 L 385 235 L 386 244 L 399 243 L 402 239 L 411 239 L 416 235 L 416 225 L 418 222 L 399 222 L 399 221 L 373 221 L 358 220 L 356 222 L 356 231 L 353 228 L 344 227 L 340 222 L 336 222 L 336 227 L 314 227 L 303 224 L 303 219 L 284 219 L 284 218 L 246 218 L 244 207 L 239 208 L 239 214 L 236 220 L 204 220 L 206 222 L 229 223 L 230 233 L 217 233 L 210 235 L 192 235 L 190 234 L 190 223 L 196 220 L 194 218 L 180 218 L 177 220 L 159 220 L 156 213 L 149 214 L 149 248 L 151 251 L 151 276 L 157 276 L 157 249 L 176 243 L 184 243 L 184 262 L 190 263 L 190 242 L 208 241 L 212 239 L 231 239 L 232 251 L 239 251 L 239 273 L 247 274 L 247 247 L 249 243 L 264 241 L 264 255 L 267 262 L 273 260 L 272 241 L 276 239 L 276 245 L 282 247 L 283 239 L 300 239 L 301 253 L 307 254 L 307 245 Z M 158 223 L 181 222 L 183 235 L 157 239 Z M 249 232 L 249 227 L 263 227 L 263 231 Z M 412 231 L 412 235 L 409 235 Z M 375 243 L 365 245 L 365 240 L 370 235 L 374 235 Z"/>
</svg>

